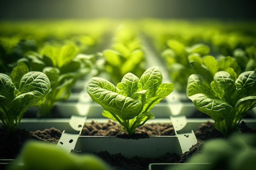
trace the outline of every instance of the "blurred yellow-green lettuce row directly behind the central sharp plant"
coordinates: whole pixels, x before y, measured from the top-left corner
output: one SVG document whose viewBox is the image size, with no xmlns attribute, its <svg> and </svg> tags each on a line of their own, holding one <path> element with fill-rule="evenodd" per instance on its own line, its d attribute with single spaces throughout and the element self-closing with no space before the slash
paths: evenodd
<svg viewBox="0 0 256 170">
<path fill-rule="evenodd" d="M 145 53 L 138 30 L 130 24 L 118 26 L 112 38 L 112 49 L 103 51 L 105 70 L 115 85 L 126 73 L 141 76 L 145 69 Z"/>
</svg>

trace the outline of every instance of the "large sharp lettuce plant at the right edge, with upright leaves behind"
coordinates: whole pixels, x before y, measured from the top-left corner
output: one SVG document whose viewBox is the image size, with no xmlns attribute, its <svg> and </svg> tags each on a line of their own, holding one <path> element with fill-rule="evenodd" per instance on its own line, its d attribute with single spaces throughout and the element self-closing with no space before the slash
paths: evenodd
<svg viewBox="0 0 256 170">
<path fill-rule="evenodd" d="M 189 76 L 186 94 L 195 107 L 209 115 L 224 135 L 238 130 L 248 110 L 256 106 L 256 72 L 240 73 L 231 57 L 219 62 L 214 57 L 190 56 L 196 74 Z"/>
</svg>

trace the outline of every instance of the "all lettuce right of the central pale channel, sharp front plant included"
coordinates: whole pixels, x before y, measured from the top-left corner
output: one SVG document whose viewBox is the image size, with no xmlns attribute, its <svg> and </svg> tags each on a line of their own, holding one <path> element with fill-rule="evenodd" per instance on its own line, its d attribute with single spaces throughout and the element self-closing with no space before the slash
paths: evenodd
<svg viewBox="0 0 256 170">
<path fill-rule="evenodd" d="M 175 90 L 225 135 L 256 106 L 255 22 L 144 21 Z"/>
</svg>

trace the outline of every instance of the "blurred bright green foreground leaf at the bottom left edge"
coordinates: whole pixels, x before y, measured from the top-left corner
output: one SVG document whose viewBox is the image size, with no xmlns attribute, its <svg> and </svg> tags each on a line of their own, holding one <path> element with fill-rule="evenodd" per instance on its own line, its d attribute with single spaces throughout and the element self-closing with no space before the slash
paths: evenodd
<svg viewBox="0 0 256 170">
<path fill-rule="evenodd" d="M 54 144 L 28 141 L 6 170 L 111 170 L 110 165 L 92 154 L 76 155 Z"/>
</svg>

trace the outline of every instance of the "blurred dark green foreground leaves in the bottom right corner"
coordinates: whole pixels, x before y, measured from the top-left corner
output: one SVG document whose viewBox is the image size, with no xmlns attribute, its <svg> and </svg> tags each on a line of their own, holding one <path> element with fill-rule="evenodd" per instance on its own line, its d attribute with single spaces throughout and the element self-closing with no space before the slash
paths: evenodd
<svg viewBox="0 0 256 170">
<path fill-rule="evenodd" d="M 227 139 L 206 141 L 201 152 L 192 155 L 183 170 L 254 170 L 256 166 L 256 135 L 234 134 Z M 180 170 L 171 166 L 167 170 Z"/>
</svg>

